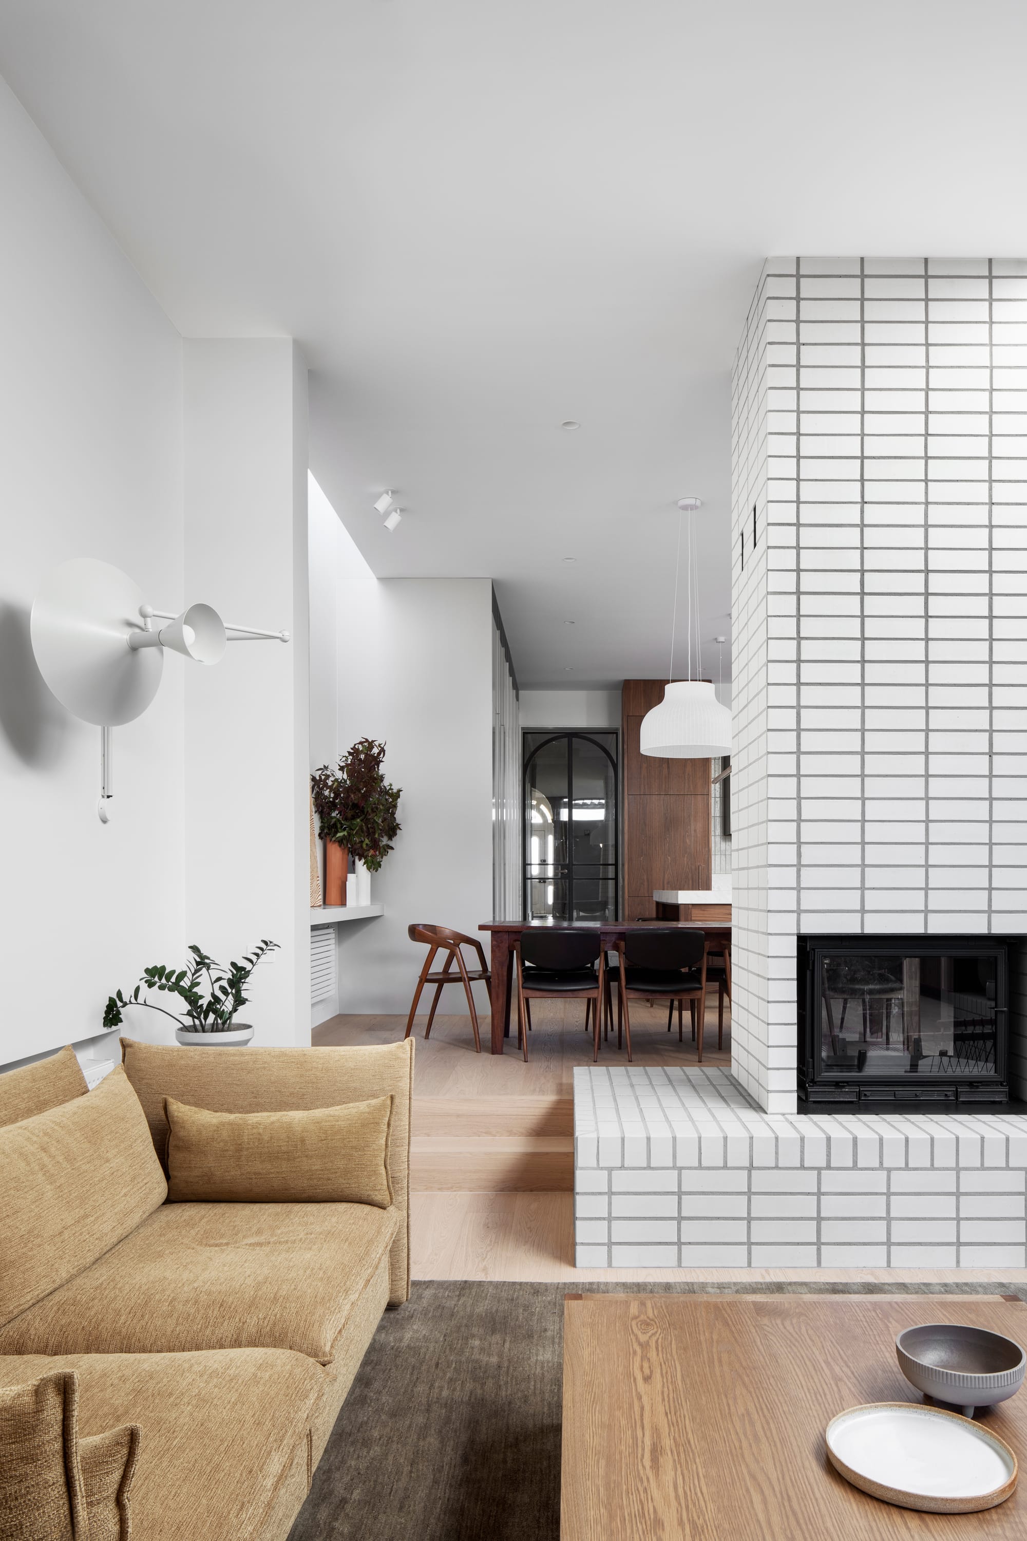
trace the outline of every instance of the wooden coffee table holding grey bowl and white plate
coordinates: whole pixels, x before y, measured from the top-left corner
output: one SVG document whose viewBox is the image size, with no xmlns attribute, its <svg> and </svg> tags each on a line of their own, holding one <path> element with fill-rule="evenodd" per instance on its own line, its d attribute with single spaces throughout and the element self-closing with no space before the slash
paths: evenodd
<svg viewBox="0 0 1027 1541">
<path fill-rule="evenodd" d="M 918 1322 L 1027 1345 L 1010 1296 L 568 1294 L 560 1541 L 1024 1541 L 1027 1388 L 985 1415 L 1021 1464 L 998 1509 L 896 1509 L 827 1461 L 835 1413 L 921 1401 L 895 1358 Z"/>
</svg>

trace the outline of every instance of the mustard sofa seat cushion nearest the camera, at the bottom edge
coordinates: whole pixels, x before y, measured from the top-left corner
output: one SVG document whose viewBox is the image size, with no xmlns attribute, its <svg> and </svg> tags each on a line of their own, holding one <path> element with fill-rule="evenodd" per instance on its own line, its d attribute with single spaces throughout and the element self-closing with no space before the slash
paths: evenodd
<svg viewBox="0 0 1027 1541">
<path fill-rule="evenodd" d="M 293 1513 L 302 1504 L 309 1427 L 325 1384 L 320 1365 L 302 1355 L 0 1358 L 0 1385 L 45 1370 L 77 1375 L 80 1435 L 139 1424 L 131 1495 L 139 1541 L 254 1541 L 296 1467 Z"/>
</svg>

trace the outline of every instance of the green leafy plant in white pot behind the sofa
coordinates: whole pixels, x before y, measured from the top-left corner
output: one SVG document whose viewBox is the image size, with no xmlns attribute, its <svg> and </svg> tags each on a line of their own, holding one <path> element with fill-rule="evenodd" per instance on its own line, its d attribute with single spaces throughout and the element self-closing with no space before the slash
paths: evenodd
<svg viewBox="0 0 1027 1541">
<path fill-rule="evenodd" d="M 249 1043 L 253 1028 L 236 1022 L 236 1012 L 246 1005 L 248 997 L 243 989 L 257 963 L 266 952 L 274 952 L 277 946 L 277 942 L 265 938 L 253 952 L 245 952 L 240 963 L 232 962 L 223 968 L 206 952 L 202 952 L 196 943 L 191 943 L 192 962 L 186 968 L 176 972 L 172 968 L 165 968 L 163 963 L 154 963 L 143 969 L 143 977 L 129 995 L 123 995 L 120 989 L 109 995 L 103 1012 L 103 1026 L 119 1028 L 125 1020 L 122 1016 L 125 1006 L 149 1006 L 151 1011 L 160 1011 L 165 1017 L 171 1017 L 176 1023 L 174 1036 L 179 1043 L 192 1048 L 228 1048 Z M 140 999 L 142 989 L 177 995 L 183 1002 L 183 1009 L 168 1011 L 165 1006 L 146 1000 L 145 995 Z"/>
</svg>

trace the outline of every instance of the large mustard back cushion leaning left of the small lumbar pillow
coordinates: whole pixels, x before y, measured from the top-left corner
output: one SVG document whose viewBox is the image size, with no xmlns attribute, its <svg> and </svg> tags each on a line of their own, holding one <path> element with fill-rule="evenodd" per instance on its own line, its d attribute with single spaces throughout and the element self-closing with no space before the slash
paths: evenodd
<svg viewBox="0 0 1027 1541">
<path fill-rule="evenodd" d="M 88 1268 L 166 1191 L 120 1065 L 86 1097 L 0 1130 L 0 1322 Z"/>
</svg>

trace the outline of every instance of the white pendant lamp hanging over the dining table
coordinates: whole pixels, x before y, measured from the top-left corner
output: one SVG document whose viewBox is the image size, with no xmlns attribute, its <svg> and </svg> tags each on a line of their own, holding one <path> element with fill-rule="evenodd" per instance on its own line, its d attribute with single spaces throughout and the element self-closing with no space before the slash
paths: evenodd
<svg viewBox="0 0 1027 1541">
<path fill-rule="evenodd" d="M 674 569 L 674 619 L 670 632 L 670 684 L 664 700 L 647 712 L 639 732 L 644 755 L 661 760 L 713 760 L 731 754 L 731 712 L 721 706 L 713 684 L 691 678 L 691 632 L 696 632 L 696 667 L 702 672 L 699 650 L 699 572 L 696 566 L 696 535 L 693 515 L 702 507 L 699 498 L 677 502 L 677 566 Z M 677 582 L 681 576 L 681 529 L 688 516 L 688 678 L 674 680 L 674 635 L 677 630 Z"/>
</svg>

